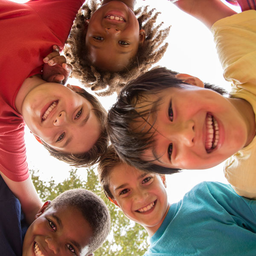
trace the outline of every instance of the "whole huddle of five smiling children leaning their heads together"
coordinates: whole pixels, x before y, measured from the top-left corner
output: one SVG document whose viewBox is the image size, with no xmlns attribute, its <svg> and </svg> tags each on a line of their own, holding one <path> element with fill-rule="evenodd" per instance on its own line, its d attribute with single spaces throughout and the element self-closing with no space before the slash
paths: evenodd
<svg viewBox="0 0 256 256">
<path fill-rule="evenodd" d="M 134 12 L 134 0 L 0 0 L 4 255 L 90 256 L 110 230 L 106 205 L 90 191 L 41 202 L 25 124 L 59 160 L 99 164 L 105 195 L 150 236 L 145 256 L 256 255 L 255 4 L 240 3 L 239 14 L 221 0 L 174 4 L 211 29 L 228 97 L 188 74 L 148 71 L 166 51 L 169 28 L 154 26 L 158 13 L 148 7 Z M 64 48 L 72 66 L 52 47 Z M 63 85 L 72 67 L 85 87 L 120 92 L 108 114 L 86 90 Z M 224 160 L 231 185 L 200 183 L 168 203 L 165 174 Z"/>
</svg>

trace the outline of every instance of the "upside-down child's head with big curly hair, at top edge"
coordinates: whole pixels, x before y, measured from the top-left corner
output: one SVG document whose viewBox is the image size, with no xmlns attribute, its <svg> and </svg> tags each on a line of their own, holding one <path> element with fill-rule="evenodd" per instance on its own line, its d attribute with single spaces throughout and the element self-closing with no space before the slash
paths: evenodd
<svg viewBox="0 0 256 256">
<path fill-rule="evenodd" d="M 65 54 L 73 75 L 101 95 L 118 91 L 162 58 L 169 28 L 154 27 L 158 12 L 134 12 L 134 0 L 90 0 L 80 9 Z M 100 3 L 102 5 L 99 7 Z M 107 89 L 106 89 L 107 88 Z"/>
</svg>

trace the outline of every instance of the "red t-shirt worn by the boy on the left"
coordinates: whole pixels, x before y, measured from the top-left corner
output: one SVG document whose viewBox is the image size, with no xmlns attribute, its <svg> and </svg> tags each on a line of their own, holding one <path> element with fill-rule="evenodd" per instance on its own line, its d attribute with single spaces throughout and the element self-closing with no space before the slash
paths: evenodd
<svg viewBox="0 0 256 256">
<path fill-rule="evenodd" d="M 9 179 L 29 177 L 24 121 L 15 107 L 23 81 L 41 73 L 52 46 L 63 49 L 84 0 L 0 0 L 0 171 Z"/>
</svg>

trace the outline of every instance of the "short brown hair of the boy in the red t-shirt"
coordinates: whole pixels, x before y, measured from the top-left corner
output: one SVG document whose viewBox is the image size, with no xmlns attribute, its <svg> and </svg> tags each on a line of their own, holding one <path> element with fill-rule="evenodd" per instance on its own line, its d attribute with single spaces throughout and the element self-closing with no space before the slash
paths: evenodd
<svg viewBox="0 0 256 256">
<path fill-rule="evenodd" d="M 86 90 L 83 90 L 82 93 L 77 93 L 83 96 L 93 105 L 93 110 L 95 111 L 95 115 L 99 120 L 101 127 L 101 134 L 99 136 L 99 139 L 89 151 L 78 154 L 64 153 L 58 151 L 49 146 L 43 140 L 42 144 L 49 151 L 50 155 L 57 158 L 58 160 L 70 164 L 70 166 L 90 167 L 98 162 L 99 157 L 107 150 L 108 147 L 108 134 L 106 130 L 107 111 L 105 110 L 105 108 L 102 107 L 99 100 L 92 94 L 88 93 Z"/>
</svg>

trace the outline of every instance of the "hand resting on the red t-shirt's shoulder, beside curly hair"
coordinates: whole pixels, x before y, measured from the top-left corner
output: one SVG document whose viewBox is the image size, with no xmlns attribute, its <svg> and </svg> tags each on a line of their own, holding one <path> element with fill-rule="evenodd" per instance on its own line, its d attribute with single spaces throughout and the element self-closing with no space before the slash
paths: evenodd
<svg viewBox="0 0 256 256">
<path fill-rule="evenodd" d="M 72 66 L 67 64 L 66 58 L 59 54 L 59 48 L 54 45 L 53 52 L 44 58 L 42 79 L 47 82 L 65 84 L 72 72 Z"/>
</svg>

